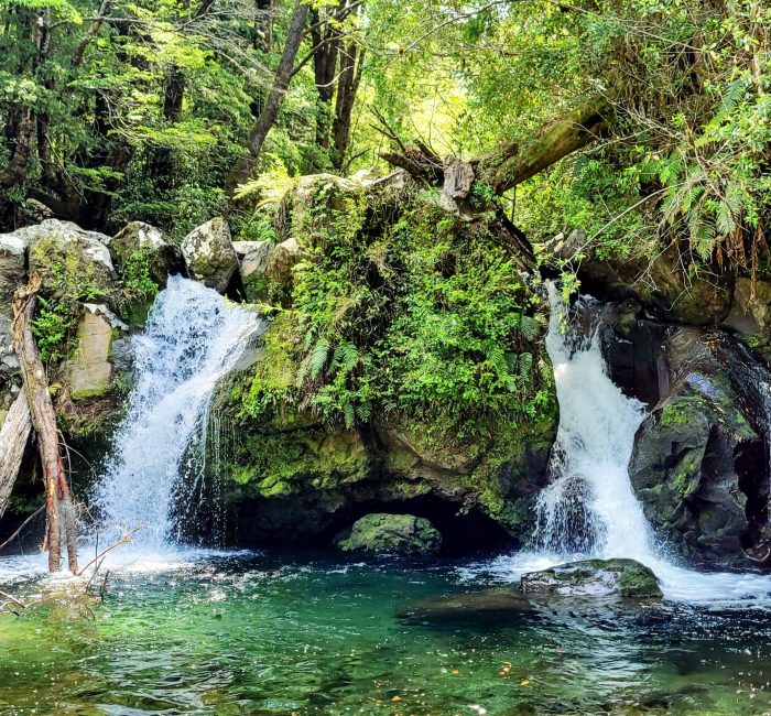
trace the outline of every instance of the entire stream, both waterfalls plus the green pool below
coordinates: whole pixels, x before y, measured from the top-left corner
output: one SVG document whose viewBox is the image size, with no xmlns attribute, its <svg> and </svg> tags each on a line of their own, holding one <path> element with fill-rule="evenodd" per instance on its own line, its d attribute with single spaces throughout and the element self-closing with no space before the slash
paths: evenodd
<svg viewBox="0 0 771 716">
<path fill-rule="evenodd" d="M 564 330 L 551 291 L 561 425 L 532 551 L 363 562 L 180 544 L 214 388 L 264 325 L 172 279 L 134 338 L 138 380 L 93 495 L 102 544 L 144 529 L 86 595 L 39 553 L 0 560 L 2 588 L 32 603 L 0 616 L 0 713 L 771 713 L 771 578 L 697 573 L 656 543 L 627 475 L 643 406 L 596 336 Z M 648 564 L 664 599 L 507 603 L 523 572 L 589 556 Z"/>
</svg>

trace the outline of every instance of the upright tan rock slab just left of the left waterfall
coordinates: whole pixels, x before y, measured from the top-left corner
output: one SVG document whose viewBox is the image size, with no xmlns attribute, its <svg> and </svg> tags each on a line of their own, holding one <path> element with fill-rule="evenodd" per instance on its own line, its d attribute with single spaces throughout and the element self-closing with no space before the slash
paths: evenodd
<svg viewBox="0 0 771 716">
<path fill-rule="evenodd" d="M 107 306 L 85 304 L 77 324 L 77 350 L 64 365 L 73 400 L 106 393 L 112 382 L 112 340 L 126 326 Z"/>
</svg>

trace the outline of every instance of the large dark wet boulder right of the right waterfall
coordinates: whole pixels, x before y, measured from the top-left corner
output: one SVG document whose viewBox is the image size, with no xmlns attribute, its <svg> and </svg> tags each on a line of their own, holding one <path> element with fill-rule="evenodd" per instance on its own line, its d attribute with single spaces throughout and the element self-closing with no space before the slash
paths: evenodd
<svg viewBox="0 0 771 716">
<path fill-rule="evenodd" d="M 717 330 L 671 327 L 663 351 L 671 386 L 638 431 L 632 486 L 691 563 L 752 566 L 769 497 L 762 381 L 750 372 L 760 367 Z"/>
</svg>

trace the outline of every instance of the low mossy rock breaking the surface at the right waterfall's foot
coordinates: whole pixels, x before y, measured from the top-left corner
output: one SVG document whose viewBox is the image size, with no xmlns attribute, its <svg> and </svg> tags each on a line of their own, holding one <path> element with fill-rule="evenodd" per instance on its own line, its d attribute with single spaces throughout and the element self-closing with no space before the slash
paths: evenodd
<svg viewBox="0 0 771 716">
<path fill-rule="evenodd" d="M 522 575 L 524 594 L 659 598 L 659 581 L 634 560 L 584 560 Z"/>
</svg>

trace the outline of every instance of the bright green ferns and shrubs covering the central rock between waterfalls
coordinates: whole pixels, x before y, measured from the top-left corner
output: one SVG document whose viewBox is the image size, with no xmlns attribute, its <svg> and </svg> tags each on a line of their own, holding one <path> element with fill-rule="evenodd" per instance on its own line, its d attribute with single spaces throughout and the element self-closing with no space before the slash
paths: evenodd
<svg viewBox="0 0 771 716">
<path fill-rule="evenodd" d="M 292 224 L 310 259 L 267 334 L 246 414 L 283 405 L 350 427 L 395 411 L 470 435 L 551 410 L 539 300 L 486 219 L 454 219 L 421 195 L 366 204 L 328 182 L 295 198 Z"/>
</svg>

